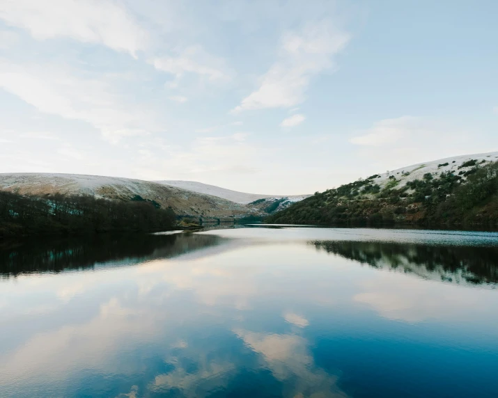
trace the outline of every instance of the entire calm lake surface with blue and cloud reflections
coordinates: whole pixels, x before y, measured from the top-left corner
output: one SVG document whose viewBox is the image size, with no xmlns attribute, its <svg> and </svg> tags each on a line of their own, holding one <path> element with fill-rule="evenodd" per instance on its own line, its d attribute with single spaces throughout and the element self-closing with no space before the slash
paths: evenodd
<svg viewBox="0 0 498 398">
<path fill-rule="evenodd" d="M 498 234 L 238 228 L 0 248 L 1 397 L 497 397 Z"/>
</svg>

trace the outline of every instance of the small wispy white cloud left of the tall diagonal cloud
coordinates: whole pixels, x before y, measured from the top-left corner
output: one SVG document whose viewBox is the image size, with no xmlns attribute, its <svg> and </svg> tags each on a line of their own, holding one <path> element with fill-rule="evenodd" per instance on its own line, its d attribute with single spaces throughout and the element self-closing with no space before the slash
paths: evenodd
<svg viewBox="0 0 498 398">
<path fill-rule="evenodd" d="M 174 56 L 163 56 L 149 61 L 157 70 L 173 74 L 180 79 L 185 73 L 199 74 L 210 81 L 224 80 L 231 77 L 231 71 L 222 58 L 208 54 L 200 46 L 190 46 Z M 178 81 L 168 83 L 177 87 Z"/>
</svg>

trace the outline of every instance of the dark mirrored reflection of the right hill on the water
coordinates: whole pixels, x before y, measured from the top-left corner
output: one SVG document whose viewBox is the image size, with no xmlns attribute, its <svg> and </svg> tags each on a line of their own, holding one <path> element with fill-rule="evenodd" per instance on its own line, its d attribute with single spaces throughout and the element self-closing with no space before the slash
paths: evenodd
<svg viewBox="0 0 498 398">
<path fill-rule="evenodd" d="M 498 248 L 358 241 L 312 241 L 316 248 L 375 268 L 412 272 L 447 282 L 498 282 Z"/>
</svg>

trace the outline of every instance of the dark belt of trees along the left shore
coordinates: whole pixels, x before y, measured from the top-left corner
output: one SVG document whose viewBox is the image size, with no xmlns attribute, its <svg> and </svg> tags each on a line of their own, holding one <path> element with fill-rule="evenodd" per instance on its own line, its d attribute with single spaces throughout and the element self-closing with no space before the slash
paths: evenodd
<svg viewBox="0 0 498 398">
<path fill-rule="evenodd" d="M 173 210 L 157 205 L 139 196 L 125 202 L 93 196 L 39 197 L 0 191 L 0 237 L 173 228 Z"/>
</svg>

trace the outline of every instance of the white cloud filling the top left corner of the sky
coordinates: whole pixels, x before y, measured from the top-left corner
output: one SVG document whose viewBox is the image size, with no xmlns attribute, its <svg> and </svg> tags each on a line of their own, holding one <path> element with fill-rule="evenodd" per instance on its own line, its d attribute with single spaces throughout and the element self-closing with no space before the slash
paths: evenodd
<svg viewBox="0 0 498 398">
<path fill-rule="evenodd" d="M 132 15 L 110 0 L 7 0 L 0 3 L 0 19 L 36 40 L 68 37 L 132 56 L 147 43 L 147 33 Z"/>
</svg>

